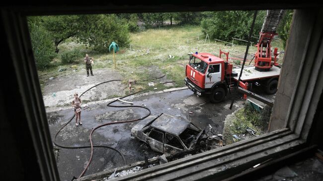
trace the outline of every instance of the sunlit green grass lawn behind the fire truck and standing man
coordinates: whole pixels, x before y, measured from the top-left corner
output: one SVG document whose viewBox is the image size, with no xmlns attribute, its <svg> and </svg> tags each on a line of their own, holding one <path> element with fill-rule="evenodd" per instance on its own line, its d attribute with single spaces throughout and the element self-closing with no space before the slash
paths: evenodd
<svg viewBox="0 0 323 181">
<path fill-rule="evenodd" d="M 246 46 L 236 45 L 234 47 L 226 46 L 222 42 L 215 40 L 206 40 L 205 36 L 200 36 L 199 39 L 195 36 L 203 35 L 199 26 L 172 26 L 158 29 L 149 29 L 144 32 L 131 34 L 131 45 L 123 47 L 119 45 L 120 51 L 115 55 L 116 70 L 126 79 L 137 80 L 133 85 L 135 90 L 154 90 L 148 87 L 147 80 L 166 75 L 163 81 L 174 81 L 172 86 L 165 87 L 156 80 L 158 89 L 183 87 L 183 79 L 185 77 L 185 65 L 188 63 L 189 52 L 208 52 L 216 56 L 219 55 L 219 50 L 230 52 L 229 57 L 243 59 Z M 195 38 L 190 38 L 195 37 Z M 188 39 L 190 38 L 190 39 Z M 188 42 L 187 42 L 188 40 Z M 205 42 L 205 43 L 204 43 Z M 238 43 L 238 42 L 235 42 Z M 278 45 L 279 43 L 273 43 Z M 71 39 L 61 44 L 59 47 L 60 53 L 56 60 L 53 60 L 52 66 L 45 71 L 38 71 L 40 84 L 43 88 L 45 82 L 50 77 L 64 76 L 73 73 L 73 71 L 58 72 L 59 68 L 67 68 L 72 70 L 72 65 L 78 68 L 85 68 L 83 59 L 75 61 L 72 64 L 62 65 L 60 54 L 64 51 L 79 49 L 81 52 L 89 54 L 94 58 L 93 69 L 95 68 L 114 68 L 113 53 L 95 53 L 91 48 L 86 48 L 85 45 L 73 42 Z M 247 59 L 252 59 L 256 49 L 254 46 L 249 48 L 250 56 Z M 280 50 L 279 50 L 280 51 Z M 242 62 L 242 61 L 241 61 Z M 127 84 L 127 81 L 123 82 Z M 155 86 L 155 87 L 156 87 Z M 148 89 L 147 89 L 148 88 Z"/>
</svg>

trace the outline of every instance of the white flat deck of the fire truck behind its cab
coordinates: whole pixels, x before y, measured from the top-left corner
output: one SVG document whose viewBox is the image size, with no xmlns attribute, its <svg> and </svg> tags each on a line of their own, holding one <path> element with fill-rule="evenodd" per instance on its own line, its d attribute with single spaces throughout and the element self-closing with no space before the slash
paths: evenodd
<svg viewBox="0 0 323 181">
<path fill-rule="evenodd" d="M 245 66 L 243 67 L 241 80 L 249 81 L 249 80 L 258 80 L 270 77 L 278 77 L 280 73 L 280 69 L 277 66 L 272 66 L 269 71 L 258 71 L 254 68 L 254 66 Z M 239 79 L 241 67 L 233 68 L 232 71 L 238 73 L 238 76 L 234 77 L 236 81 Z"/>
</svg>

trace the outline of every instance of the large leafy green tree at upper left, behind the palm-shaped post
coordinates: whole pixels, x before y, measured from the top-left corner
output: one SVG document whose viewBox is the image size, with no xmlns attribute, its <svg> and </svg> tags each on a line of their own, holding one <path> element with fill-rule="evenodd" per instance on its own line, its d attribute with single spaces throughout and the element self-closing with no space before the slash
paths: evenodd
<svg viewBox="0 0 323 181">
<path fill-rule="evenodd" d="M 71 37 L 97 51 L 106 51 L 112 41 L 129 44 L 129 26 L 114 14 L 44 16 L 41 23 L 52 36 L 56 53 L 58 45 Z"/>
</svg>

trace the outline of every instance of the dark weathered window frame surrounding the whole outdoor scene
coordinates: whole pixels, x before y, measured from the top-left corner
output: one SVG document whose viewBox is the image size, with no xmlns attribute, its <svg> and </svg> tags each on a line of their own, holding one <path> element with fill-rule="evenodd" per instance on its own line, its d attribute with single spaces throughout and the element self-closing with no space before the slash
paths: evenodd
<svg viewBox="0 0 323 181">
<path fill-rule="evenodd" d="M 284 4 L 282 5 L 283 7 L 286 7 L 284 6 Z M 260 8 L 260 6 L 257 6 L 257 7 Z M 123 10 L 118 10 L 118 6 L 112 6 L 108 8 L 107 6 L 90 7 L 90 8 L 94 9 L 92 13 L 111 13 L 111 12 L 123 11 Z M 151 7 L 148 7 L 148 9 L 149 8 Z M 174 8 L 174 11 L 176 8 L 180 9 L 178 6 L 176 6 Z M 187 8 L 186 6 L 183 9 L 185 8 L 186 10 L 189 10 L 189 8 Z M 233 9 L 234 7 L 227 6 L 226 8 Z M 26 8 L 2 8 L 1 9 L 3 23 L 7 25 L 4 31 L 6 32 L 7 39 L 8 39 L 8 47 L 10 48 L 10 55 L 11 55 L 10 58 L 15 68 L 15 73 L 17 76 L 16 81 L 18 83 L 22 104 L 24 107 L 24 112 L 26 114 L 26 121 L 28 122 L 30 134 L 34 143 L 33 147 L 35 148 L 35 152 L 38 158 L 38 164 L 40 166 L 41 175 L 43 180 L 46 180 L 46 181 L 59 181 L 60 179 L 59 179 L 59 174 L 57 170 L 56 160 L 53 153 L 52 139 L 49 132 L 45 106 L 42 100 L 42 94 L 40 89 L 40 83 L 38 80 L 37 69 L 33 58 L 33 52 L 31 48 L 26 16 L 63 14 L 63 13 L 72 14 L 73 12 L 75 12 L 75 14 L 78 14 L 78 13 L 81 14 L 82 12 L 85 12 L 85 10 L 86 12 L 88 12 L 89 7 L 83 6 L 83 7 L 75 8 L 74 10 L 73 9 L 74 9 L 73 6 L 68 6 L 68 7 L 61 6 L 61 8 L 58 8 L 58 9 L 41 8 L 41 7 L 34 7 L 34 6 L 29 9 L 28 8 L 27 9 Z M 220 6 L 218 7 L 218 9 L 200 8 L 200 10 L 220 10 L 220 9 L 225 9 L 225 6 L 224 5 Z M 243 10 L 243 7 L 242 7 L 242 10 Z M 313 21 L 320 21 L 321 23 L 323 10 L 322 8 L 319 10 L 320 12 L 318 12 L 318 14 L 321 15 L 321 19 L 319 18 L 319 20 L 313 20 Z M 125 11 L 127 11 L 127 9 Z M 143 10 L 138 7 L 135 11 L 143 12 Z M 296 11 L 296 14 L 298 12 L 304 12 L 304 11 L 303 10 Z M 307 10 L 306 12 L 311 12 L 311 10 Z M 295 18 L 293 17 L 293 20 L 294 19 Z M 292 27 L 293 26 L 297 26 L 297 25 L 293 23 Z M 308 136 L 310 134 L 311 125 L 314 120 L 314 115 L 317 110 L 319 98 L 323 90 L 323 79 L 320 79 L 320 77 L 323 77 L 323 72 L 319 71 L 320 69 L 322 69 L 322 66 L 323 66 L 322 64 L 323 48 L 322 48 L 322 43 L 319 42 L 322 40 L 320 39 L 314 42 L 311 41 L 311 40 L 315 40 L 314 38 L 315 36 L 322 35 L 322 28 L 320 28 L 320 25 L 312 25 L 309 29 L 311 34 L 308 34 L 306 49 L 302 50 L 303 51 L 302 62 L 297 74 L 295 90 L 291 95 L 291 101 L 289 104 L 288 112 L 286 113 L 287 115 L 285 120 L 285 128 L 272 131 L 264 135 L 260 135 L 256 138 L 251 138 L 249 140 L 234 143 L 226 147 L 222 147 L 220 149 L 210 150 L 201 154 L 187 157 L 185 159 L 186 160 L 185 162 L 189 162 L 187 164 L 200 163 L 198 159 L 207 159 L 208 157 L 225 158 L 228 155 L 239 154 L 240 151 L 243 151 L 243 150 L 247 150 L 247 149 L 250 150 L 250 148 L 251 149 L 254 148 L 256 150 L 254 154 L 257 153 L 261 155 L 265 151 L 263 149 L 260 149 L 259 146 L 262 146 L 263 144 L 268 144 L 267 145 L 268 150 L 277 149 L 279 146 L 282 146 L 286 152 L 288 152 L 288 150 L 290 149 L 294 149 L 294 151 L 299 150 L 299 147 L 306 145 L 308 141 Z M 293 29 L 291 32 L 293 33 Z M 322 37 L 322 36 L 319 36 L 319 37 Z M 315 48 L 315 46 L 317 46 L 317 48 Z M 293 48 L 293 45 L 288 44 L 286 54 L 288 50 L 292 48 Z M 287 59 L 286 56 L 287 55 L 285 55 L 284 59 Z M 305 59 L 305 57 L 307 58 Z M 317 66 L 313 66 L 314 64 L 317 64 Z M 284 86 L 287 86 L 287 85 L 279 83 L 280 89 L 282 89 Z M 276 144 L 275 142 L 277 141 L 276 138 L 281 139 L 281 142 L 278 141 L 279 143 Z M 270 145 L 270 142 L 274 142 L 275 146 Z M 290 145 L 288 146 L 287 144 L 290 144 Z M 249 148 L 246 148 L 245 145 L 248 145 Z M 290 151 L 290 152 L 294 152 L 294 151 Z M 268 159 L 268 158 L 273 158 L 273 156 L 274 154 L 269 156 L 263 156 L 263 158 Z M 246 159 L 246 158 L 249 158 L 249 157 L 237 157 L 237 160 Z M 223 163 L 230 164 L 237 160 L 231 160 Z M 247 164 L 248 166 L 250 166 L 250 164 L 252 165 L 254 163 L 252 161 L 249 161 Z M 220 166 L 221 165 L 219 165 L 219 167 Z M 244 166 L 243 168 L 247 167 L 245 164 L 243 166 Z M 128 176 L 119 178 L 117 180 L 128 180 L 128 179 L 133 179 L 137 177 L 141 177 L 142 179 L 152 178 L 153 176 L 149 177 L 145 175 L 149 173 L 156 173 L 154 177 L 157 177 L 159 176 L 157 175 L 157 173 L 166 172 L 166 169 L 168 169 L 167 172 L 169 173 L 171 171 L 174 171 L 174 169 L 172 168 L 178 169 L 179 167 L 181 169 L 185 169 L 188 167 L 188 165 L 185 165 L 183 160 L 180 159 L 174 162 L 170 162 L 147 170 L 143 170 L 136 174 L 128 175 Z M 211 170 L 207 169 L 206 171 L 212 171 L 212 169 L 213 168 L 211 168 Z M 216 174 L 220 173 L 221 175 L 228 170 L 229 168 L 222 170 L 222 172 L 221 171 L 216 172 L 215 170 L 213 170 L 213 172 L 216 172 Z M 238 169 L 239 172 L 241 170 L 242 168 L 240 168 L 240 170 Z M 201 172 L 201 173 L 204 173 L 204 172 Z M 232 172 L 232 174 L 235 174 L 235 173 L 237 172 Z M 205 175 L 204 178 L 210 178 L 211 176 L 214 176 L 214 175 Z M 194 177 L 198 178 L 198 175 L 194 175 Z"/>
</svg>

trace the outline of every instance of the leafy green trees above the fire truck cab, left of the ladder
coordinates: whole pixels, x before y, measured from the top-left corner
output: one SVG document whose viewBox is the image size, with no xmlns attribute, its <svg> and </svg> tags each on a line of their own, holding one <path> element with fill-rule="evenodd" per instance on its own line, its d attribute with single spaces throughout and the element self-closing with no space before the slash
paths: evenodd
<svg viewBox="0 0 323 181">
<path fill-rule="evenodd" d="M 254 11 L 203 12 L 202 32 L 210 38 L 224 41 L 231 41 L 232 38 L 247 40 L 253 13 Z M 258 11 L 252 36 L 259 37 L 265 14 L 266 11 Z"/>
</svg>

